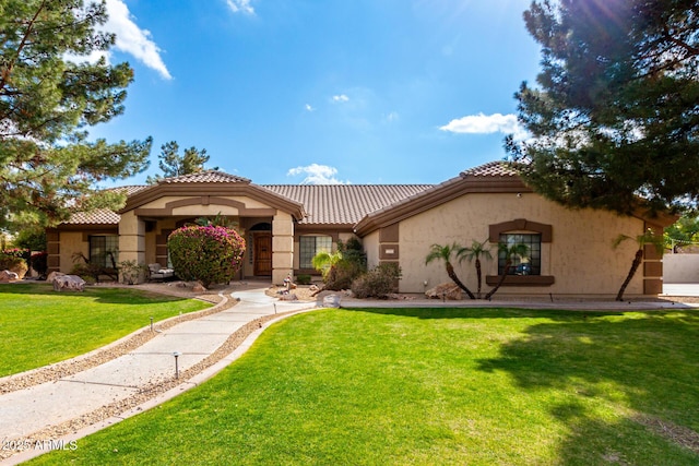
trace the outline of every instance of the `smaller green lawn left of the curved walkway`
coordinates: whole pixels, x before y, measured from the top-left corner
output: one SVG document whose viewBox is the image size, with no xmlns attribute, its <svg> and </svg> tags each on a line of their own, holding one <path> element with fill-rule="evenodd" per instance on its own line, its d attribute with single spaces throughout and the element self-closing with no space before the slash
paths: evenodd
<svg viewBox="0 0 699 466">
<path fill-rule="evenodd" d="M 48 284 L 0 286 L 0 377 L 69 359 L 155 321 L 211 304 L 129 288 L 56 292 Z"/>
</svg>

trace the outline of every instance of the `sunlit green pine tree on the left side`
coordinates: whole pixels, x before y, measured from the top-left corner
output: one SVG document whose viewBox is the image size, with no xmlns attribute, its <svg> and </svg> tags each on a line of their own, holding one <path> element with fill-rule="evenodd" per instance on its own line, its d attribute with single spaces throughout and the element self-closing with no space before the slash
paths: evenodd
<svg viewBox="0 0 699 466">
<path fill-rule="evenodd" d="M 87 139 L 123 111 L 133 80 L 128 63 L 86 60 L 115 41 L 95 29 L 106 20 L 104 1 L 0 1 L 0 228 L 118 208 L 123 194 L 96 183 L 147 166 L 150 139 Z"/>
</svg>

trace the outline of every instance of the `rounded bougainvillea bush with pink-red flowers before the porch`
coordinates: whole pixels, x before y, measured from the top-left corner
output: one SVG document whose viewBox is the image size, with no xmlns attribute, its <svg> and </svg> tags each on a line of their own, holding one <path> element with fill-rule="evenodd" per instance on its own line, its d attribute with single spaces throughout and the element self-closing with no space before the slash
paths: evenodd
<svg viewBox="0 0 699 466">
<path fill-rule="evenodd" d="M 245 239 L 233 228 L 193 225 L 173 231 L 167 248 L 180 278 L 209 287 L 233 279 L 242 265 Z"/>
</svg>

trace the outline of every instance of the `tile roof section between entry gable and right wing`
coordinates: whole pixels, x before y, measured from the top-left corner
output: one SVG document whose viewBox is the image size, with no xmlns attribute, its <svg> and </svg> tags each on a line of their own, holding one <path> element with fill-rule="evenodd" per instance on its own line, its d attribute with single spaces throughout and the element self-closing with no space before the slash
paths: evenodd
<svg viewBox="0 0 699 466">
<path fill-rule="evenodd" d="M 300 224 L 354 225 L 366 214 L 415 195 L 431 184 L 272 184 L 263 188 L 301 203 L 309 216 Z"/>
</svg>

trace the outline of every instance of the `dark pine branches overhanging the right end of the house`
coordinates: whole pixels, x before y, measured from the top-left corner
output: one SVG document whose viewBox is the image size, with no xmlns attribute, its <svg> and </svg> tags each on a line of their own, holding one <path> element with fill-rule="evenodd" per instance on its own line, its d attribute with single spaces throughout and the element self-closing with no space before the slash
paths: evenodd
<svg viewBox="0 0 699 466">
<path fill-rule="evenodd" d="M 543 56 L 516 94 L 533 138 L 506 148 L 528 183 L 571 207 L 696 206 L 696 0 L 544 0 L 524 19 Z"/>
</svg>

